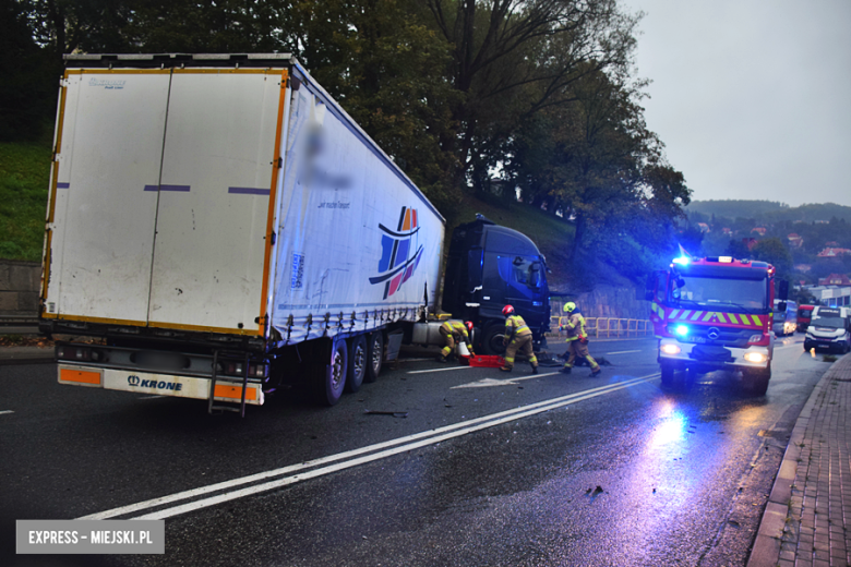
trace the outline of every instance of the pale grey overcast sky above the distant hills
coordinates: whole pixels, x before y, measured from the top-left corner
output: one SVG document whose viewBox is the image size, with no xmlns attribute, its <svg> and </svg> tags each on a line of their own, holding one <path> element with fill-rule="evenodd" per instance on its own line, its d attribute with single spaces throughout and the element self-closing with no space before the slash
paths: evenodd
<svg viewBox="0 0 851 567">
<path fill-rule="evenodd" d="M 695 201 L 851 206 L 851 0 L 622 0 L 650 130 Z"/>
</svg>

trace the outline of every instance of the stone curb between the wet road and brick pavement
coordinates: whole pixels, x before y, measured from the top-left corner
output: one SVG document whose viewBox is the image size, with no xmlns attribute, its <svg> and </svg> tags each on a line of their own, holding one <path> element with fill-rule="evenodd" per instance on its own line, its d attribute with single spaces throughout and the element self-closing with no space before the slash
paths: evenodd
<svg viewBox="0 0 851 567">
<path fill-rule="evenodd" d="M 798 460 L 801 457 L 804 434 L 810 425 L 816 400 L 832 378 L 835 374 L 834 369 L 843 358 L 840 357 L 822 375 L 818 384 L 810 394 L 810 399 L 806 400 L 804 408 L 801 410 L 798 421 L 795 421 L 792 436 L 789 438 L 783 460 L 780 462 L 780 469 L 777 472 L 771 494 L 768 497 L 768 504 L 759 522 L 751 556 L 747 558 L 747 567 L 776 567 L 780 563 L 780 545 L 782 543 L 786 520 L 790 514 L 792 484 L 798 473 Z"/>
</svg>

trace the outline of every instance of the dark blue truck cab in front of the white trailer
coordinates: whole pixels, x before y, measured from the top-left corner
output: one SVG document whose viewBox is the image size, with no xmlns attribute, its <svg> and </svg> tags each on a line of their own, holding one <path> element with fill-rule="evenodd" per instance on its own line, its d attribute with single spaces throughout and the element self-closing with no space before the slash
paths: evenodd
<svg viewBox="0 0 851 567">
<path fill-rule="evenodd" d="M 452 233 L 442 307 L 479 329 L 475 347 L 504 352 L 505 317 L 511 304 L 532 331 L 536 350 L 547 346 L 550 326 L 547 264 L 525 234 L 500 227 L 481 215 Z"/>
</svg>

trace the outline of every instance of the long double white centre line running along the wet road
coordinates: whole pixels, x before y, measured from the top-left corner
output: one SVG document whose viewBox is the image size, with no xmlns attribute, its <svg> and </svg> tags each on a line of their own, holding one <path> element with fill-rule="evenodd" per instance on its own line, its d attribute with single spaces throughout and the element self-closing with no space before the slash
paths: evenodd
<svg viewBox="0 0 851 567">
<path fill-rule="evenodd" d="M 529 406 L 523 406 L 520 408 L 514 408 L 511 410 L 502 411 L 499 413 L 492 413 L 490 415 L 484 415 L 481 418 L 476 418 L 472 420 L 463 421 L 459 423 L 455 423 L 452 425 L 446 425 L 443 427 L 439 427 L 435 430 L 424 431 L 420 433 L 416 433 L 413 435 L 408 435 L 405 437 L 399 437 L 397 439 L 391 439 L 383 443 L 377 443 L 374 445 L 370 445 L 367 447 L 361 447 L 360 449 L 352 449 L 345 453 L 339 453 L 337 455 L 331 455 L 328 457 L 322 457 L 320 459 L 314 459 L 312 461 L 301 462 L 298 465 L 290 465 L 288 467 L 283 467 L 280 469 L 275 469 L 266 472 L 260 472 L 256 474 L 251 474 L 248 476 L 242 476 L 240 479 L 233 479 L 230 481 L 219 482 L 216 484 L 211 484 L 208 486 L 202 486 L 199 488 L 192 488 L 189 491 L 179 492 L 176 494 L 170 494 L 167 496 L 161 496 L 158 498 L 152 498 L 149 500 L 140 502 L 136 504 L 131 504 L 128 506 L 121 506 L 119 508 L 113 508 L 111 510 L 106 510 L 97 514 L 92 514 L 88 516 L 84 516 L 82 518 L 77 518 L 80 520 L 103 520 L 106 518 L 115 518 L 117 516 L 124 516 L 128 514 L 132 514 L 134 511 L 140 510 L 146 510 L 149 508 L 154 508 L 157 506 L 161 506 L 165 504 L 170 504 L 180 500 L 187 500 L 196 496 L 202 496 L 204 494 L 211 494 L 218 491 L 225 491 L 228 488 L 233 488 L 236 486 L 240 486 L 243 484 L 249 484 L 252 482 L 261 481 L 264 479 L 271 479 L 274 476 L 280 476 L 283 474 L 288 474 L 292 472 L 297 472 L 304 469 L 310 469 L 313 467 L 319 467 L 322 465 L 327 465 L 334 461 L 339 461 L 344 459 L 350 459 L 352 457 L 357 457 L 359 455 L 364 455 L 368 453 L 376 451 L 380 449 L 386 449 L 387 447 L 394 447 L 397 445 L 400 445 L 398 447 L 395 447 L 393 449 L 388 450 L 382 450 L 380 453 L 374 453 L 373 455 L 356 458 L 352 460 L 347 460 L 345 462 L 340 462 L 337 465 L 333 465 L 329 467 L 324 467 L 320 469 L 314 469 L 312 471 L 308 471 L 303 474 L 297 474 L 293 476 L 286 476 L 284 479 L 278 479 L 272 482 L 263 483 L 263 484 L 256 484 L 254 486 L 249 486 L 245 488 L 241 488 L 233 492 L 228 492 L 225 494 L 220 494 L 218 496 L 211 496 L 207 498 L 203 498 L 200 500 L 191 502 L 188 504 L 182 504 L 179 506 L 175 506 L 171 508 L 166 508 L 163 510 L 158 510 L 155 512 L 151 512 L 144 516 L 139 516 L 132 519 L 153 519 L 156 518 L 169 518 L 172 516 L 177 516 L 179 514 L 184 514 L 188 511 L 205 508 L 208 506 L 214 506 L 216 504 L 232 500 L 236 498 L 241 498 L 243 496 L 248 496 L 251 494 L 256 494 L 260 492 L 269 491 L 273 488 L 277 488 L 279 486 L 285 486 L 287 484 L 292 484 L 295 482 L 299 482 L 302 480 L 312 479 L 315 476 L 321 476 L 323 474 L 329 474 L 332 472 L 336 472 L 339 470 L 348 469 L 351 467 L 356 467 L 358 465 L 362 465 L 364 462 L 370 462 L 377 459 L 383 459 L 386 457 L 389 457 L 392 455 L 397 455 L 399 453 L 405 453 L 408 450 L 412 450 L 419 447 L 424 447 L 427 445 L 432 445 L 435 443 L 440 443 L 445 439 L 450 439 L 453 437 L 458 437 L 462 435 L 466 435 L 468 433 L 472 433 L 475 431 L 483 430 L 487 427 L 492 427 L 494 425 L 499 425 L 502 423 L 506 423 L 510 421 L 515 421 L 522 418 L 526 418 L 529 415 L 535 415 L 536 413 L 541 413 L 544 411 L 549 411 L 551 409 L 556 409 L 563 406 L 568 406 L 571 403 L 576 403 L 578 401 L 583 401 L 586 399 L 594 398 L 596 396 L 601 396 L 603 394 L 608 394 L 610 391 L 616 391 L 619 389 L 628 388 L 632 386 L 636 386 L 638 384 L 643 384 L 645 382 L 649 382 L 652 378 L 656 378 L 659 376 L 659 373 L 650 374 L 647 376 L 642 376 L 638 378 L 631 378 L 624 382 L 618 382 L 614 384 L 608 384 L 606 386 L 600 386 L 597 388 L 587 389 L 584 391 L 578 391 L 576 394 L 570 394 L 566 396 L 561 396 L 559 398 L 552 398 L 549 400 L 539 401 L 536 403 L 531 403 Z M 418 441 L 419 439 L 419 441 Z M 410 443 L 413 442 L 413 443 Z M 403 445 L 407 444 L 407 445 Z"/>
</svg>

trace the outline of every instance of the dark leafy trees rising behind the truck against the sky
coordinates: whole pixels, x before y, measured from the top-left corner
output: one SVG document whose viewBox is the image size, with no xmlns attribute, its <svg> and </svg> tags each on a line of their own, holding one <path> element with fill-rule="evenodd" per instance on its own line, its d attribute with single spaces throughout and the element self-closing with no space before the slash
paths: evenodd
<svg viewBox="0 0 851 567">
<path fill-rule="evenodd" d="M 52 104 L 34 114 L 41 120 L 52 118 L 64 52 L 291 52 L 447 218 L 458 216 L 469 189 L 487 201 L 499 186 L 498 216 L 524 219 L 505 224 L 523 225 L 516 228 L 532 238 L 544 234 L 551 264 L 565 272 L 571 260 L 582 267 L 582 258 L 602 256 L 628 260 L 623 269 L 637 275 L 638 266 L 668 255 L 688 204 L 682 173 L 667 164 L 645 124 L 645 83 L 631 77 L 639 16 L 616 0 L 12 5 L 11 24 L 0 31 L 21 46 L 22 59 L 39 62 L 20 81 L 50 86 L 44 98 Z M 0 93 L 15 69 L 3 69 Z M 0 120 L 0 135 L 2 128 Z M 22 138 L 23 129 L 9 131 Z M 29 191 L 25 178 L 4 174 L 2 182 L 11 194 Z M 47 183 L 35 186 L 44 191 Z M 24 215 L 16 220 L 22 234 L 25 218 L 36 218 L 25 208 L 10 209 Z M 19 250 L 9 240 L 3 250 L 37 256 L 40 236 L 26 241 Z"/>
</svg>

